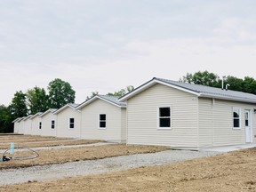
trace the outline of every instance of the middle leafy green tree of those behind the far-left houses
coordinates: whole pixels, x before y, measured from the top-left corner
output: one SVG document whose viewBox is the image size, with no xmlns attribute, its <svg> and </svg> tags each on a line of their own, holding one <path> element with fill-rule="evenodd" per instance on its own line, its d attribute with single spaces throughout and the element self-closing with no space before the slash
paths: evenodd
<svg viewBox="0 0 256 192">
<path fill-rule="evenodd" d="M 27 92 L 28 109 L 30 114 L 36 114 L 37 112 L 44 112 L 49 107 L 48 95 L 44 88 L 35 87 Z"/>
</svg>

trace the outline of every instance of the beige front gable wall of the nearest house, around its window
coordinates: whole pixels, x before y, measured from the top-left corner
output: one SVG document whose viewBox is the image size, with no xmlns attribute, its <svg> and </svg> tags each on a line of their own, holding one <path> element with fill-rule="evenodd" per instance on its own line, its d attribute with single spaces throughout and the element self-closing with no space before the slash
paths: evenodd
<svg viewBox="0 0 256 192">
<path fill-rule="evenodd" d="M 198 146 L 198 100 L 188 92 L 155 84 L 127 100 L 127 143 Z M 158 129 L 158 108 L 171 107 L 172 129 Z"/>
</svg>

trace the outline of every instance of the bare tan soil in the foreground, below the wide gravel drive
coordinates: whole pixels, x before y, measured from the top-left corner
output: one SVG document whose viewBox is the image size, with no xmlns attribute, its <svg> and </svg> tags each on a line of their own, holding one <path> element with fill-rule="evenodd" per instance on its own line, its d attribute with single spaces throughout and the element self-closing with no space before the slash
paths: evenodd
<svg viewBox="0 0 256 192">
<path fill-rule="evenodd" d="M 125 172 L 28 182 L 0 191 L 256 191 L 256 148 Z"/>
</svg>

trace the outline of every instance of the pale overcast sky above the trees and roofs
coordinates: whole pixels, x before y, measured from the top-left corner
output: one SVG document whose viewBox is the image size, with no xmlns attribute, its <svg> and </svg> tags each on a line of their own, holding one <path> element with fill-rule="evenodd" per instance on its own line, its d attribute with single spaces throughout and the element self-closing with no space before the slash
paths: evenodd
<svg viewBox="0 0 256 192">
<path fill-rule="evenodd" d="M 208 70 L 256 79 L 255 0 L 0 0 L 0 105 L 55 78 L 115 92 Z"/>
</svg>

